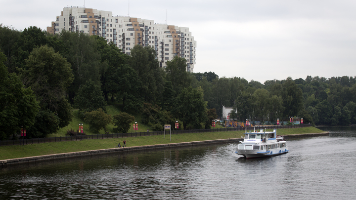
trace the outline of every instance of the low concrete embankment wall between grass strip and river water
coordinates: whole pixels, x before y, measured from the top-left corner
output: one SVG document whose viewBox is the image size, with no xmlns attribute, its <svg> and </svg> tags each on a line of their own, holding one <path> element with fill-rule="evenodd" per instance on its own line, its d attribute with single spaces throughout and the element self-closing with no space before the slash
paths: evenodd
<svg viewBox="0 0 356 200">
<path fill-rule="evenodd" d="M 284 138 L 292 139 L 292 138 L 299 138 L 299 137 L 315 137 L 315 136 L 323 136 L 323 135 L 329 135 L 329 133 L 327 132 L 327 133 L 307 133 L 307 134 L 285 135 Z M 43 161 L 43 160 L 65 159 L 65 158 L 82 157 L 82 156 L 99 155 L 99 154 L 128 153 L 128 152 L 142 151 L 142 150 L 165 149 L 165 148 L 175 148 L 175 147 L 189 147 L 189 146 L 198 146 L 198 145 L 206 145 L 206 144 L 230 143 L 230 142 L 238 142 L 238 141 L 242 141 L 242 140 L 243 140 L 243 138 L 232 138 L 232 139 L 221 139 L 221 140 L 182 142 L 182 143 L 173 143 L 173 144 L 159 144 L 159 145 L 147 145 L 147 146 L 137 146 L 137 147 L 90 150 L 90 151 L 71 152 L 71 153 L 62 153 L 62 154 L 51 154 L 51 155 L 34 156 L 34 157 L 19 158 L 19 159 L 0 160 L 0 165 L 23 164 L 23 163 L 37 162 L 37 161 Z"/>
</svg>

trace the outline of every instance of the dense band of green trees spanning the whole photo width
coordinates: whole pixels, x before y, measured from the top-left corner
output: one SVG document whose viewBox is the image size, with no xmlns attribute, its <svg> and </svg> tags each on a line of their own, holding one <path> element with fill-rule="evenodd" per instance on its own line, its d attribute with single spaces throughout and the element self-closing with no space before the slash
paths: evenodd
<svg viewBox="0 0 356 200">
<path fill-rule="evenodd" d="M 51 35 L 37 27 L 18 31 L 1 24 L 0 139 L 21 127 L 30 137 L 55 133 L 72 121 L 73 108 L 92 121 L 93 129 L 114 123 L 118 132 L 134 120 L 127 113 L 140 114 L 153 130 L 176 120 L 184 129 L 210 128 L 223 106 L 233 107 L 231 117 L 241 121 L 273 123 L 294 116 L 312 124 L 356 123 L 355 77 L 262 84 L 214 72 L 188 73 L 179 57 L 162 69 L 156 57 L 150 47 L 136 45 L 129 56 L 98 36 Z M 119 103 L 123 114 L 107 116 L 109 102 Z M 106 122 L 95 125 L 95 117 Z"/>
</svg>

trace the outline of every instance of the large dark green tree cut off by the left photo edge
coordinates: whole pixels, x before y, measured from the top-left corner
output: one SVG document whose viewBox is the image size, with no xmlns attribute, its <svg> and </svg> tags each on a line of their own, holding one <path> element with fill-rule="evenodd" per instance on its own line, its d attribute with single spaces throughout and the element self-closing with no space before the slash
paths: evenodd
<svg viewBox="0 0 356 200">
<path fill-rule="evenodd" d="M 24 88 L 15 73 L 9 74 L 0 52 L 0 140 L 35 123 L 39 103 L 31 88 Z"/>
</svg>

